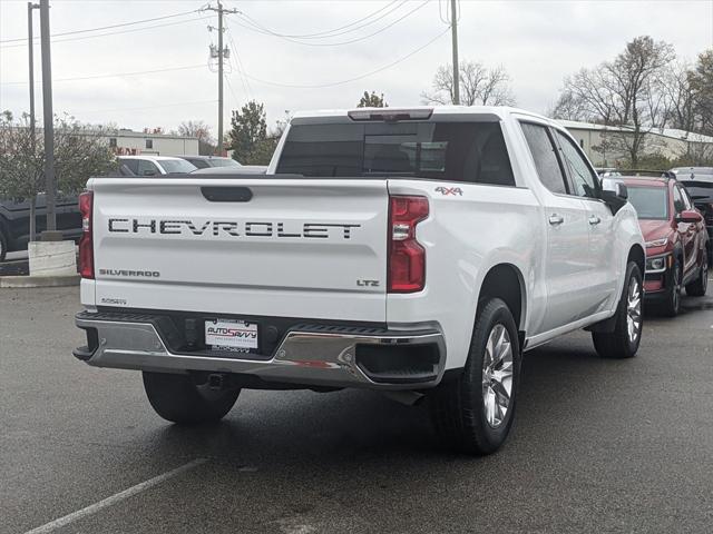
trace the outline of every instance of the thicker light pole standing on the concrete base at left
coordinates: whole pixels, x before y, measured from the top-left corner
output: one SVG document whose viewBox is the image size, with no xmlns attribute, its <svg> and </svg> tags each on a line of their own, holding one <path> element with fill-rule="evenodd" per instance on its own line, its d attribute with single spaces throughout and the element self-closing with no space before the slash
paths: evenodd
<svg viewBox="0 0 713 534">
<path fill-rule="evenodd" d="M 56 240 L 55 116 L 52 113 L 52 63 L 49 50 L 49 0 L 40 0 L 40 42 L 42 50 L 42 115 L 45 119 L 45 192 L 47 198 L 47 235 L 42 236 L 42 240 Z"/>
</svg>

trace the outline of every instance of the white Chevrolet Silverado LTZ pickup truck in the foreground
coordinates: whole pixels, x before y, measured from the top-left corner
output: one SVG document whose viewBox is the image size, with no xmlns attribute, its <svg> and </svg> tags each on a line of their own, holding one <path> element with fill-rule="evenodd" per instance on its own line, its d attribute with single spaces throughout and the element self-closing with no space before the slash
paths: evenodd
<svg viewBox="0 0 713 534">
<path fill-rule="evenodd" d="M 604 357 L 639 345 L 626 189 L 525 111 L 301 113 L 266 175 L 87 189 L 75 356 L 141 370 L 172 422 L 217 421 L 242 388 L 363 387 L 424 398 L 449 445 L 487 454 L 525 350 L 578 328 Z"/>
</svg>

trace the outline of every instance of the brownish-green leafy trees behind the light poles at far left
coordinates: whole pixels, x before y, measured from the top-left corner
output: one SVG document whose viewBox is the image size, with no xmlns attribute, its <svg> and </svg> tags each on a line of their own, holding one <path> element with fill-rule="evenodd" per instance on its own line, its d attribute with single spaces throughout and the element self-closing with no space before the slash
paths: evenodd
<svg viewBox="0 0 713 534">
<path fill-rule="evenodd" d="M 108 145 L 108 129 L 82 125 L 70 116 L 55 117 L 55 175 L 57 190 L 74 195 L 91 176 L 115 170 Z M 45 144 L 42 129 L 35 137 L 29 116 L 0 116 L 0 197 L 30 202 L 30 239 L 35 238 L 37 195 L 45 191 Z"/>
</svg>

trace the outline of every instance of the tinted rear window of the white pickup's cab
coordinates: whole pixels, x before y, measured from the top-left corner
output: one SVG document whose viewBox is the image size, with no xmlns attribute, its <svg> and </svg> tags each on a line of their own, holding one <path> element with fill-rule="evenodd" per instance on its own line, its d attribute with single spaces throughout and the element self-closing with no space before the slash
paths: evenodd
<svg viewBox="0 0 713 534">
<path fill-rule="evenodd" d="M 515 186 L 498 122 L 297 125 L 290 129 L 277 174 Z"/>
</svg>

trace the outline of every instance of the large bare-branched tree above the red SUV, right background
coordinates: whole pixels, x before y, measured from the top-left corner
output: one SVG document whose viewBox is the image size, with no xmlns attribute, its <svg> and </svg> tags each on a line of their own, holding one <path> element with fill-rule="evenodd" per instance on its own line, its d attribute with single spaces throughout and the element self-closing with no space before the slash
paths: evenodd
<svg viewBox="0 0 713 534">
<path fill-rule="evenodd" d="M 580 118 L 617 127 L 604 135 L 600 148 L 625 154 L 635 167 L 652 142 L 648 134 L 668 118 L 663 75 L 674 58 L 671 44 L 637 37 L 613 61 L 566 78 L 560 101 Z"/>
</svg>

